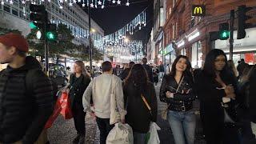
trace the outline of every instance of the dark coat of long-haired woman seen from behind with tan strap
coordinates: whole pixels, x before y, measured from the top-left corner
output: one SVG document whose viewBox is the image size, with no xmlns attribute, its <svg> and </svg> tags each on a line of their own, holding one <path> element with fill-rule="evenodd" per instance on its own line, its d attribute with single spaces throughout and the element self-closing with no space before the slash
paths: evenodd
<svg viewBox="0 0 256 144">
<path fill-rule="evenodd" d="M 142 100 L 140 90 L 138 90 L 138 87 L 134 86 L 133 82 L 125 84 L 123 93 L 127 110 L 126 122 L 133 128 L 134 132 L 147 133 L 148 130 L 150 130 L 150 122 L 157 121 L 158 102 L 154 85 L 149 83 L 145 94 L 143 94 L 150 105 L 152 116 Z"/>
</svg>

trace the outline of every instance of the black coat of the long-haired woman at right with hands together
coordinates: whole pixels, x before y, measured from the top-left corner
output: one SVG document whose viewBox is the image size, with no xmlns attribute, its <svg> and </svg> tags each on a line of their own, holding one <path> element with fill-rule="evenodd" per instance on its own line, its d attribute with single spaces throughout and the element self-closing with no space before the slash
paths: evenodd
<svg viewBox="0 0 256 144">
<path fill-rule="evenodd" d="M 237 80 L 234 75 L 221 74 L 222 81 L 226 85 L 234 86 L 235 94 L 238 95 Z M 200 114 L 202 118 L 202 126 L 206 134 L 206 141 L 219 143 L 225 137 L 224 133 L 224 110 L 222 108 L 222 98 L 226 96 L 225 90 L 218 90 L 217 87 L 222 87 L 216 80 L 210 77 L 202 70 L 202 73 L 195 78 L 194 89 L 200 100 Z M 235 101 L 228 102 L 230 107 L 230 117 L 236 119 L 234 111 Z M 224 136 L 224 137 L 223 137 Z M 234 136 L 235 137 L 235 136 Z M 235 138 L 234 138 L 235 139 Z"/>
</svg>

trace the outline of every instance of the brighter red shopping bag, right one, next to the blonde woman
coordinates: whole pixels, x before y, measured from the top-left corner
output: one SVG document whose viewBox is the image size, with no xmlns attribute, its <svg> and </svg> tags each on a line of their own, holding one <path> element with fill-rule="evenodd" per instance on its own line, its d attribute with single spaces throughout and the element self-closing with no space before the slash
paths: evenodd
<svg viewBox="0 0 256 144">
<path fill-rule="evenodd" d="M 70 98 L 67 93 L 62 93 L 62 96 L 60 98 L 60 104 L 62 107 L 60 114 L 62 114 L 65 119 L 73 118 L 72 111 L 71 111 Z"/>
</svg>

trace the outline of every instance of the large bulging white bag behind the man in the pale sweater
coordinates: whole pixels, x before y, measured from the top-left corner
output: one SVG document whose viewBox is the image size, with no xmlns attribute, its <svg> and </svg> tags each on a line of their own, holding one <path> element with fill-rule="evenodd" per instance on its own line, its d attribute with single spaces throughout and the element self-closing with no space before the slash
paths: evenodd
<svg viewBox="0 0 256 144">
<path fill-rule="evenodd" d="M 106 138 L 106 144 L 134 144 L 132 128 L 128 124 L 116 123 Z"/>
</svg>

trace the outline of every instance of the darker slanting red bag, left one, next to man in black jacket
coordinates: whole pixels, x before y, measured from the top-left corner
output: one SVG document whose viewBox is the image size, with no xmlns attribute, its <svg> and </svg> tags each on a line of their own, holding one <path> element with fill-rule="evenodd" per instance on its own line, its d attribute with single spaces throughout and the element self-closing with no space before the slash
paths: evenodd
<svg viewBox="0 0 256 144">
<path fill-rule="evenodd" d="M 51 114 L 50 118 L 46 122 L 45 129 L 48 129 L 53 125 L 54 121 L 58 117 L 58 114 L 60 114 L 61 110 L 62 110 L 62 106 L 60 103 L 60 98 L 58 98 L 58 100 L 54 106 L 54 112 L 53 112 L 53 114 Z"/>
</svg>

